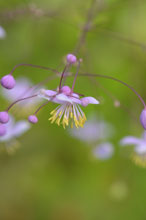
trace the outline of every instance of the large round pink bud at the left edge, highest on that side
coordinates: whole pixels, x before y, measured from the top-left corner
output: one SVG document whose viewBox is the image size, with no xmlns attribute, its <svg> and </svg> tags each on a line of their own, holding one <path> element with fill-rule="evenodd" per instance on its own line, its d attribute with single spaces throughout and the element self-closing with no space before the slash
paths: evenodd
<svg viewBox="0 0 146 220">
<path fill-rule="evenodd" d="M 16 82 L 12 75 L 8 74 L 1 79 L 1 85 L 6 89 L 13 89 Z"/>
</svg>

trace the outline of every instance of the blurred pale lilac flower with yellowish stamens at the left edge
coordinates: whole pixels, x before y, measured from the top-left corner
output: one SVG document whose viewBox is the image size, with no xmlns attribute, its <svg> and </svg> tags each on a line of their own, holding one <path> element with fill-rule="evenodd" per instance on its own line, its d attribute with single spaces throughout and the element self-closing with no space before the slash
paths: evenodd
<svg viewBox="0 0 146 220">
<path fill-rule="evenodd" d="M 10 116 L 9 122 L 7 124 L 3 124 L 2 126 L 5 126 L 6 132 L 4 135 L 0 136 L 0 142 L 5 143 L 9 152 L 11 150 L 13 151 L 14 147 L 17 147 L 16 138 L 20 137 L 30 129 L 30 124 L 26 120 L 15 122 L 12 116 Z"/>
</svg>

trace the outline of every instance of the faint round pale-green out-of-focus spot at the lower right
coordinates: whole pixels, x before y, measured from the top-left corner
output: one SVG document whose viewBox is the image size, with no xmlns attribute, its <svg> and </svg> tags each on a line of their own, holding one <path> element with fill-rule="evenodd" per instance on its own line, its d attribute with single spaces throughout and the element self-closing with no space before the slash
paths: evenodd
<svg viewBox="0 0 146 220">
<path fill-rule="evenodd" d="M 114 182 L 109 189 L 109 196 L 116 201 L 122 201 L 128 196 L 128 186 L 123 181 Z"/>
</svg>

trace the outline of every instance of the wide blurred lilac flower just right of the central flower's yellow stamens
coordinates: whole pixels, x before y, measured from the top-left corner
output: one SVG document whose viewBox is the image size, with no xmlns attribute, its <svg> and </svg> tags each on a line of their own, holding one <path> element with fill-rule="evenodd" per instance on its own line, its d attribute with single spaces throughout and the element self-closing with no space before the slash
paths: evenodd
<svg viewBox="0 0 146 220">
<path fill-rule="evenodd" d="M 113 135 L 113 127 L 103 121 L 97 120 L 96 117 L 91 117 L 85 124 L 84 128 L 69 130 L 71 136 L 84 141 L 86 143 L 95 143 L 98 140 L 107 139 Z"/>
</svg>

